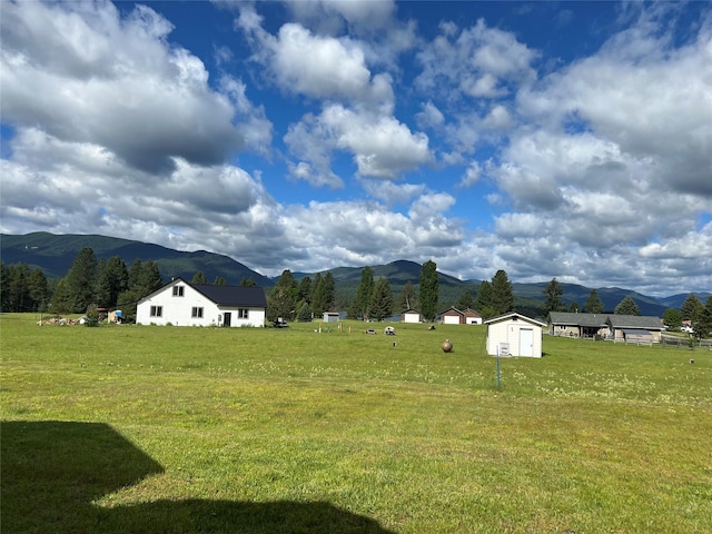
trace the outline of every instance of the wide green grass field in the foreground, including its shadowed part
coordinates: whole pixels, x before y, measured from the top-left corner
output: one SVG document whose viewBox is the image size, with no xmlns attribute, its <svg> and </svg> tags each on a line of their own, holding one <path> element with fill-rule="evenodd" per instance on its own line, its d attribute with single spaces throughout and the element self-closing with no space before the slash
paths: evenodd
<svg viewBox="0 0 712 534">
<path fill-rule="evenodd" d="M 545 336 L 498 389 L 484 327 L 38 318 L 0 316 L 3 534 L 712 532 L 706 350 Z"/>
</svg>

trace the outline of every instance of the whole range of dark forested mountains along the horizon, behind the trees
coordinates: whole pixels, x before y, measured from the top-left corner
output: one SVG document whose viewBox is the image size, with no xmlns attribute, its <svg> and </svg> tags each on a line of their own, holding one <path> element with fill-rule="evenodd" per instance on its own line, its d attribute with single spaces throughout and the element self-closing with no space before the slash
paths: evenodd
<svg viewBox="0 0 712 534">
<path fill-rule="evenodd" d="M 24 263 L 30 268 L 40 268 L 48 278 L 61 278 L 67 275 L 77 254 L 83 247 L 91 247 L 97 258 L 108 259 L 119 256 L 128 267 L 136 260 L 154 260 L 158 265 L 161 276 L 166 281 L 172 277 L 181 277 L 190 280 L 197 271 L 202 271 L 208 281 L 222 277 L 228 284 L 239 284 L 244 278 L 253 278 L 258 286 L 271 287 L 277 278 L 270 278 L 246 267 L 235 259 L 220 254 L 197 250 L 192 253 L 174 250 L 170 248 L 148 243 L 120 239 L 116 237 L 98 235 L 55 235 L 49 233 L 32 233 L 22 236 L 0 235 L 0 257 L 4 264 Z M 374 278 L 387 277 L 394 296 L 400 293 L 405 284 L 411 281 L 417 286 L 421 276 L 421 264 L 415 261 L 398 260 L 387 265 L 370 266 Z M 360 284 L 363 267 L 338 267 L 329 269 L 336 285 L 337 296 L 342 300 L 348 300 L 356 293 Z M 327 271 L 322 271 L 325 275 Z M 314 278 L 316 273 L 294 273 L 296 279 L 305 276 Z M 493 273 L 494 275 L 494 273 Z M 477 293 L 481 280 L 459 280 L 454 276 L 438 273 L 441 287 L 441 303 L 456 304 L 465 290 L 473 296 Z M 517 309 L 534 315 L 541 310 L 544 296 L 543 290 L 548 283 L 518 284 L 513 283 L 513 290 Z M 563 300 L 566 305 L 572 301 L 583 307 L 591 288 L 562 284 L 564 289 Z M 620 287 L 596 288 L 599 298 L 603 301 L 607 312 L 626 296 L 632 297 L 643 315 L 661 316 L 668 308 L 680 308 L 688 294 L 671 295 L 657 298 Z M 698 298 L 704 303 L 709 293 L 696 293 Z"/>
</svg>

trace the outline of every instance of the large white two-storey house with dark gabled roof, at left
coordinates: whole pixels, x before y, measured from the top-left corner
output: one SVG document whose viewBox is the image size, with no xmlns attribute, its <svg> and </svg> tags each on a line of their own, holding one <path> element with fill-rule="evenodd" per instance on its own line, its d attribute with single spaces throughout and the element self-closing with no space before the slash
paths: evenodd
<svg viewBox="0 0 712 534">
<path fill-rule="evenodd" d="M 265 326 L 267 299 L 261 287 L 188 284 L 176 278 L 141 298 L 139 325 Z"/>
</svg>

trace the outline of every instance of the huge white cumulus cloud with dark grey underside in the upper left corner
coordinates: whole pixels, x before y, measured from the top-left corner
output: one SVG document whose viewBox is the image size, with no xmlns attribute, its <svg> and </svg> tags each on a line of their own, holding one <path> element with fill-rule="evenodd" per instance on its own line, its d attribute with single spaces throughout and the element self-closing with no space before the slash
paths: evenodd
<svg viewBox="0 0 712 534">
<path fill-rule="evenodd" d="M 121 19 L 108 2 L 17 2 L 2 14 L 3 121 L 102 146 L 154 174 L 170 172 L 174 157 L 215 165 L 246 147 L 234 121 L 251 110 L 209 87 L 202 62 L 168 44 L 172 27 L 151 9 Z"/>
</svg>

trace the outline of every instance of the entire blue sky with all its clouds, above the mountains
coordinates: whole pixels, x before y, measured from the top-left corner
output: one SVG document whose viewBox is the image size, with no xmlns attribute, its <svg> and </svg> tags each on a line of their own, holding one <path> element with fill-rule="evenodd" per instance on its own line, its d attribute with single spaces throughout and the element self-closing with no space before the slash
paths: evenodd
<svg viewBox="0 0 712 534">
<path fill-rule="evenodd" d="M 0 230 L 712 290 L 708 2 L 0 2 Z"/>
</svg>

